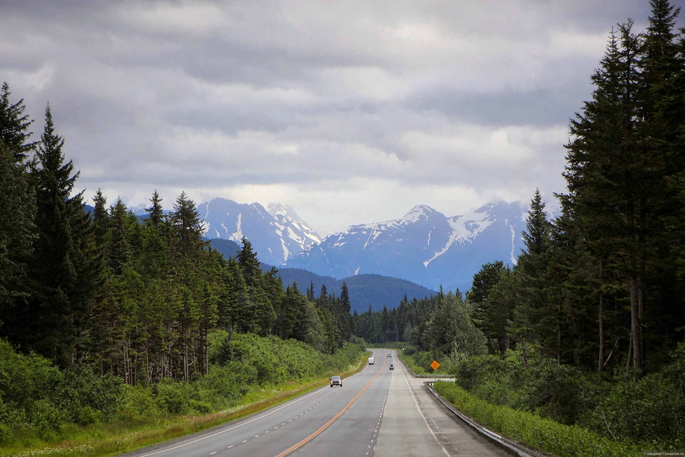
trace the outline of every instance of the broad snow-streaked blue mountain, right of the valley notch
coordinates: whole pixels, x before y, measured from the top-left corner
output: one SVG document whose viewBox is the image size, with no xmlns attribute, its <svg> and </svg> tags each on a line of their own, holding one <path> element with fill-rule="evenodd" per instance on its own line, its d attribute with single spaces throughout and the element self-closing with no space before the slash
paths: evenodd
<svg viewBox="0 0 685 457">
<path fill-rule="evenodd" d="M 375 273 L 437 289 L 471 285 L 485 262 L 514 263 L 527 207 L 488 203 L 446 217 L 419 205 L 399 219 L 351 225 L 287 260 L 292 267 L 336 278 Z"/>
</svg>

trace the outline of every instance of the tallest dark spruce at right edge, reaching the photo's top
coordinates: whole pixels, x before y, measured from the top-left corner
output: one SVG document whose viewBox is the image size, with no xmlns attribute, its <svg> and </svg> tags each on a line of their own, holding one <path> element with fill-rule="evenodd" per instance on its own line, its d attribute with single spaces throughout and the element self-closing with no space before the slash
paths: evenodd
<svg viewBox="0 0 685 457">
<path fill-rule="evenodd" d="M 683 71 L 685 58 L 678 53 L 677 38 L 680 36 L 675 32 L 675 18 L 680 8 L 674 8 L 668 0 L 651 0 L 649 3 L 651 15 L 647 32 L 643 35 L 638 62 L 638 103 L 641 114 L 638 133 L 642 138 L 638 160 L 643 169 L 638 201 L 640 367 L 647 364 L 650 341 L 660 344 L 664 331 L 669 332 L 666 330 L 671 326 L 668 316 L 675 307 L 667 303 L 680 301 L 677 297 L 682 296 L 676 262 L 662 261 L 664 258 L 673 258 L 672 251 L 676 244 L 666 229 L 665 220 L 670 218 L 664 216 L 677 212 L 679 206 L 664 176 L 684 164 L 680 158 L 682 153 L 671 153 L 671 145 L 681 134 L 679 126 L 673 123 L 673 112 L 683 112 L 682 104 L 672 104 L 673 95 L 678 93 L 675 86 L 677 75 Z M 658 297 L 671 298 L 658 300 Z"/>
</svg>

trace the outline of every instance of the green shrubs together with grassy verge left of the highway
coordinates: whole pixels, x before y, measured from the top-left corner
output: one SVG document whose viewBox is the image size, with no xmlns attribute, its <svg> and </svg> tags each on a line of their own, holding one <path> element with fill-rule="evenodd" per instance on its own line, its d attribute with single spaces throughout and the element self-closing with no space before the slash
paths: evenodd
<svg viewBox="0 0 685 457">
<path fill-rule="evenodd" d="M 295 340 L 216 332 L 208 375 L 129 386 L 60 371 L 0 341 L 0 456 L 105 456 L 199 432 L 358 372 L 370 354 L 362 343 L 327 355 Z"/>
</svg>

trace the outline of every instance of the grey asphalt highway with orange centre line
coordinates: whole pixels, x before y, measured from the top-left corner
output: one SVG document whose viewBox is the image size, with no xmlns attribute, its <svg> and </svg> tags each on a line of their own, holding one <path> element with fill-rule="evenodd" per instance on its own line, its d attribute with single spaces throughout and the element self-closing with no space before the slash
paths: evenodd
<svg viewBox="0 0 685 457">
<path fill-rule="evenodd" d="M 284 404 L 136 457 L 506 456 L 453 418 L 388 350 L 375 365 Z M 390 364 L 395 366 L 390 371 Z"/>
</svg>

